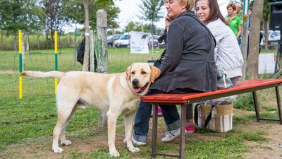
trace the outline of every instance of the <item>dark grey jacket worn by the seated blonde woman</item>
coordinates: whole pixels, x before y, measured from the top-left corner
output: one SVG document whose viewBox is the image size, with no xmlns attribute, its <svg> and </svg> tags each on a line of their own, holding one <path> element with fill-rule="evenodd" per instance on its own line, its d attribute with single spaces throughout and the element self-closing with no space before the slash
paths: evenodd
<svg viewBox="0 0 282 159">
<path fill-rule="evenodd" d="M 165 92 L 176 88 L 203 92 L 216 90 L 214 37 L 195 18 L 193 11 L 185 11 L 171 21 L 166 54 L 159 66 L 161 76 L 152 83 L 151 89 Z"/>
</svg>

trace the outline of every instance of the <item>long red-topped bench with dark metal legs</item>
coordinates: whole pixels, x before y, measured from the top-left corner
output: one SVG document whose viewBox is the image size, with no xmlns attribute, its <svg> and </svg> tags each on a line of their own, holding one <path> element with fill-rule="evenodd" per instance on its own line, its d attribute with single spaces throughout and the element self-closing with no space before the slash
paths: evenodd
<svg viewBox="0 0 282 159">
<path fill-rule="evenodd" d="M 214 100 L 217 98 L 228 97 L 230 95 L 238 95 L 241 93 L 252 92 L 252 96 L 255 103 L 255 113 L 257 117 L 257 122 L 259 120 L 275 120 L 282 124 L 282 114 L 281 114 L 281 101 L 279 95 L 279 88 L 281 86 L 282 79 L 252 79 L 247 81 L 240 81 L 233 88 L 220 89 L 214 92 L 208 93 L 188 93 L 188 94 L 156 94 L 156 95 L 145 95 L 142 97 L 144 102 L 150 102 L 153 104 L 153 125 L 152 125 L 152 158 L 157 155 L 170 156 L 176 158 L 185 158 L 184 148 L 185 148 L 185 116 L 186 116 L 186 106 L 195 102 L 202 102 L 205 100 Z M 279 119 L 265 119 L 259 117 L 259 107 L 257 105 L 257 90 L 263 90 L 266 88 L 275 88 L 276 90 L 276 100 L 278 107 Z M 157 153 L 157 109 L 158 105 L 180 105 L 181 113 L 181 128 L 180 128 L 180 150 L 179 155 L 171 154 L 161 154 Z"/>
</svg>

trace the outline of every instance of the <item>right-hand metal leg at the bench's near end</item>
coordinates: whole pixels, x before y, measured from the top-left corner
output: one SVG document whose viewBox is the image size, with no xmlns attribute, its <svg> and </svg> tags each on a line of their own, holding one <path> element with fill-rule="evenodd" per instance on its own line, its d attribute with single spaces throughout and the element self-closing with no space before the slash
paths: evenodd
<svg viewBox="0 0 282 159">
<path fill-rule="evenodd" d="M 181 105 L 181 126 L 180 126 L 180 150 L 179 158 L 185 158 L 185 124 L 186 124 L 186 108 L 188 105 Z M 190 106 L 190 105 L 189 105 Z"/>
</svg>

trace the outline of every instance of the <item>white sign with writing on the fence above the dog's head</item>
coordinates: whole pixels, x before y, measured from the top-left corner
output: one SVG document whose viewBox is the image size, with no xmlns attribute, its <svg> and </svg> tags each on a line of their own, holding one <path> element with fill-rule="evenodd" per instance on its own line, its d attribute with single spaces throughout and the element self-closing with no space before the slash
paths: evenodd
<svg viewBox="0 0 282 159">
<path fill-rule="evenodd" d="M 130 53 L 149 54 L 148 41 L 149 33 L 131 32 L 130 33 Z"/>
</svg>

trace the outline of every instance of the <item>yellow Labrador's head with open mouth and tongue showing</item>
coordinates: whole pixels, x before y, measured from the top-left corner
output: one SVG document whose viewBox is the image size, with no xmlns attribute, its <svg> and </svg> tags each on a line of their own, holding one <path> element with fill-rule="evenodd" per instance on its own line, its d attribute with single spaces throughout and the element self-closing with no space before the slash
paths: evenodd
<svg viewBox="0 0 282 159">
<path fill-rule="evenodd" d="M 137 95 L 145 95 L 151 83 L 159 77 L 161 71 L 149 63 L 133 63 L 126 69 L 126 78 L 130 88 Z"/>
</svg>

